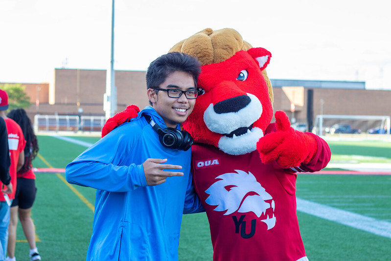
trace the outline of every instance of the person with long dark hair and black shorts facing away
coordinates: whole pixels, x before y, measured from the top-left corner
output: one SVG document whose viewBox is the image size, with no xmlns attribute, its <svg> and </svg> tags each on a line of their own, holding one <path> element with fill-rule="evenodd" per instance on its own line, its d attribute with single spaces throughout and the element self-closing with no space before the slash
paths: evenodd
<svg viewBox="0 0 391 261">
<path fill-rule="evenodd" d="M 15 120 L 21 126 L 26 146 L 24 147 L 24 164 L 17 172 L 17 188 L 15 199 L 11 205 L 11 220 L 8 229 L 8 257 L 6 261 L 15 261 L 16 228 L 19 220 L 23 228 L 24 236 L 30 246 L 30 261 L 41 260 L 35 244 L 35 227 L 30 217 L 35 200 L 37 188 L 35 187 L 35 174 L 32 170 L 32 160 L 38 154 L 38 140 L 34 134 L 31 120 L 23 109 L 14 109 L 7 117 Z"/>
</svg>

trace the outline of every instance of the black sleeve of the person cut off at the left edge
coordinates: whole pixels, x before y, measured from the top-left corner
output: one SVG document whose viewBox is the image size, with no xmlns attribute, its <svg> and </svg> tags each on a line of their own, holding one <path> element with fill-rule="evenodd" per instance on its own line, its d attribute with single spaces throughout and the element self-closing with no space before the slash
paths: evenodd
<svg viewBox="0 0 391 261">
<path fill-rule="evenodd" d="M 0 119 L 0 143 L 0 180 L 4 185 L 8 185 L 11 181 L 11 177 L 9 175 L 11 159 L 9 157 L 8 150 L 7 127 L 3 119 Z"/>
</svg>

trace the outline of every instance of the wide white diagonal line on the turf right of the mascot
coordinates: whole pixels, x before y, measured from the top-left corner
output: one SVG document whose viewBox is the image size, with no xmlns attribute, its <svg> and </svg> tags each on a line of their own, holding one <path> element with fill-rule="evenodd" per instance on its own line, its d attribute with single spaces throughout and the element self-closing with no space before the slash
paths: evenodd
<svg viewBox="0 0 391 261">
<path fill-rule="evenodd" d="M 391 223 L 297 198 L 298 211 L 391 238 Z"/>
</svg>

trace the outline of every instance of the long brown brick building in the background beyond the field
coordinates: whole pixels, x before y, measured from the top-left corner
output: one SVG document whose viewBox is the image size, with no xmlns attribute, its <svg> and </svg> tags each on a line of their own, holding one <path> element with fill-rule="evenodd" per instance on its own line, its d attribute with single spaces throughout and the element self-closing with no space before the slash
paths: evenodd
<svg viewBox="0 0 391 261">
<path fill-rule="evenodd" d="M 148 105 L 145 71 L 115 71 L 117 111 L 137 104 Z M 328 115 L 391 115 L 391 91 L 366 90 L 365 82 L 310 81 L 272 79 L 274 110 L 283 110 L 298 122 L 306 122 L 308 109 L 312 119 Z M 31 119 L 41 115 L 105 116 L 103 95 L 106 92 L 106 70 L 55 69 L 52 83 L 26 83 Z M 308 95 L 312 106 L 308 107 Z M 294 112 L 291 112 L 294 104 Z"/>
</svg>

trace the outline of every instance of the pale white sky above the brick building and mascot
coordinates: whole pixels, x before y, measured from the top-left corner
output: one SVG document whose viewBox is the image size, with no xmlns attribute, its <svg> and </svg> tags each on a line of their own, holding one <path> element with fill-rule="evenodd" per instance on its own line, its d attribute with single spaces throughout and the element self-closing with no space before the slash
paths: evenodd
<svg viewBox="0 0 391 261">
<path fill-rule="evenodd" d="M 365 81 L 391 90 L 389 0 L 115 0 L 114 69 L 146 71 L 205 28 L 272 53 L 271 79 Z M 112 0 L 0 0 L 0 82 L 55 68 L 108 69 Z"/>
</svg>

